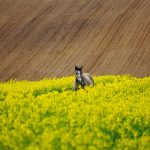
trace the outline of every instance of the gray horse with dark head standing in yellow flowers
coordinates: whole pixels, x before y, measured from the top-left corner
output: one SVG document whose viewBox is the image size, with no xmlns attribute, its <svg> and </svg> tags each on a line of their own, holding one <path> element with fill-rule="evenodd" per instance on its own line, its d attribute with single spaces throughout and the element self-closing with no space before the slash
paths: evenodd
<svg viewBox="0 0 150 150">
<path fill-rule="evenodd" d="M 91 74 L 82 73 L 83 66 L 75 66 L 75 80 L 73 83 L 73 90 L 77 91 L 79 86 L 83 89 L 85 86 L 92 85 L 94 86 L 94 80 Z"/>
</svg>

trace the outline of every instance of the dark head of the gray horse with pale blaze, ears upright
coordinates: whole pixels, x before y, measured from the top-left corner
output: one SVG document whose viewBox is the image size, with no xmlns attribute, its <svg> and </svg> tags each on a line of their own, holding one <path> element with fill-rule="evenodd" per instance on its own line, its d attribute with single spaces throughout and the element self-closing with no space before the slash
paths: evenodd
<svg viewBox="0 0 150 150">
<path fill-rule="evenodd" d="M 81 84 L 81 86 L 84 86 L 84 81 L 82 77 L 82 68 L 83 66 L 75 66 L 75 76 L 76 76 L 77 82 Z"/>
</svg>

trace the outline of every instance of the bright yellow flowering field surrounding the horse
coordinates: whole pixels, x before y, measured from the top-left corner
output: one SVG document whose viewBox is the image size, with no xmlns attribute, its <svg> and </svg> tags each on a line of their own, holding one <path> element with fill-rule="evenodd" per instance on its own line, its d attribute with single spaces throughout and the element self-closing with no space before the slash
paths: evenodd
<svg viewBox="0 0 150 150">
<path fill-rule="evenodd" d="M 0 83 L 0 150 L 149 150 L 150 77 Z"/>
</svg>

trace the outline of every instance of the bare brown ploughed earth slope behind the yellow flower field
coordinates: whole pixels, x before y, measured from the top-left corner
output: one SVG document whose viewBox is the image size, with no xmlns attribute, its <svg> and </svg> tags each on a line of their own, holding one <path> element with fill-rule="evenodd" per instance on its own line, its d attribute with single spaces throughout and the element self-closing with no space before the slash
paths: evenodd
<svg viewBox="0 0 150 150">
<path fill-rule="evenodd" d="M 150 0 L 0 0 L 0 81 L 150 75 Z"/>
</svg>

